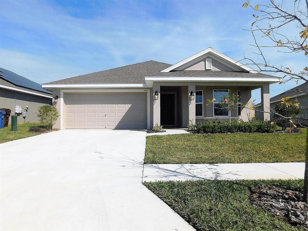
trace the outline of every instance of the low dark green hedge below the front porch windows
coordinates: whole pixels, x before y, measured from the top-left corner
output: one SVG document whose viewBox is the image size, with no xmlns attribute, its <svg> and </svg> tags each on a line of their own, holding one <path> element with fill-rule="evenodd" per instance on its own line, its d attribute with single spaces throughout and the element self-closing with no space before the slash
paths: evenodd
<svg viewBox="0 0 308 231">
<path fill-rule="evenodd" d="M 275 132 L 277 125 L 270 121 L 250 120 L 248 122 L 234 120 L 208 121 L 197 123 L 193 132 L 197 133 L 227 133 L 227 132 Z"/>
</svg>

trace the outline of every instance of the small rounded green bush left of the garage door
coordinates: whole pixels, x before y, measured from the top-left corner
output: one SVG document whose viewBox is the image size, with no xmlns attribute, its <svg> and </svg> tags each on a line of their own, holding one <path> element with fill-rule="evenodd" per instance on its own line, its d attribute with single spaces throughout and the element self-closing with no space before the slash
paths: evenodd
<svg viewBox="0 0 308 231">
<path fill-rule="evenodd" d="M 39 107 L 37 116 L 39 117 L 39 121 L 50 130 L 58 119 L 59 112 L 55 107 L 46 104 Z"/>
</svg>

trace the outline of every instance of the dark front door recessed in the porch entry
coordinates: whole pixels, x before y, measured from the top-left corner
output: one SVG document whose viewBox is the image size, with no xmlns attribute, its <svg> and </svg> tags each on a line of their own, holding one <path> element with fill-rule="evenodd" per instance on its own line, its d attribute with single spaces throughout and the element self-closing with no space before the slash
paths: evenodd
<svg viewBox="0 0 308 231">
<path fill-rule="evenodd" d="M 175 126 L 175 95 L 160 94 L 160 124 Z"/>
</svg>

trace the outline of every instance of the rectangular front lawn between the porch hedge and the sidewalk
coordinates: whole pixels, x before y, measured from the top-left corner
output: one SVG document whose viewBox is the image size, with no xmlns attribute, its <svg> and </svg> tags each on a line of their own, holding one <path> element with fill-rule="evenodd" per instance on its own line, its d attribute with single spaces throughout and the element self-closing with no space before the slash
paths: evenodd
<svg viewBox="0 0 308 231">
<path fill-rule="evenodd" d="M 225 133 L 148 136 L 145 164 L 304 162 L 303 133 Z"/>
</svg>

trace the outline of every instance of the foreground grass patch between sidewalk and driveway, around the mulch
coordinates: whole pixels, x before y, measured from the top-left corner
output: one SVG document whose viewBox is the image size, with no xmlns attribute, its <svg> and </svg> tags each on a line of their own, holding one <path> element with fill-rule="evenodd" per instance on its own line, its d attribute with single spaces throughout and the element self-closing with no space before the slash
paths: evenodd
<svg viewBox="0 0 308 231">
<path fill-rule="evenodd" d="M 249 203 L 249 189 L 267 183 L 302 190 L 303 180 L 187 180 L 144 185 L 198 231 L 304 230 L 278 220 Z"/>
</svg>

